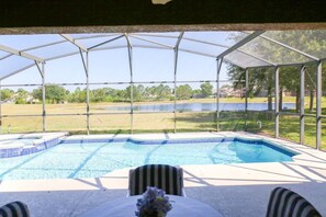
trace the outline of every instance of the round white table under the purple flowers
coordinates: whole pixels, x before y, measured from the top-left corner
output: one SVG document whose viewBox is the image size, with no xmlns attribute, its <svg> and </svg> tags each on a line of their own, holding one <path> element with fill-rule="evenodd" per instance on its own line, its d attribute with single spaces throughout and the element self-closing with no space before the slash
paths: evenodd
<svg viewBox="0 0 326 217">
<path fill-rule="evenodd" d="M 172 202 L 172 209 L 167 217 L 223 217 L 223 215 L 207 204 L 193 198 L 168 195 Z M 137 210 L 137 199 L 142 196 L 130 196 L 106 202 L 88 210 L 82 217 L 133 217 Z"/>
</svg>

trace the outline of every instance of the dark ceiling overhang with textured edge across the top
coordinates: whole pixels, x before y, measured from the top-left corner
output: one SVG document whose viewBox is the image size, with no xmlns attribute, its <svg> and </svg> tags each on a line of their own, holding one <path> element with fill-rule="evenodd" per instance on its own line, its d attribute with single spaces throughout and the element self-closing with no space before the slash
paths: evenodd
<svg viewBox="0 0 326 217">
<path fill-rule="evenodd" d="M 326 28 L 311 1 L 2 0 L 0 34 Z"/>
</svg>

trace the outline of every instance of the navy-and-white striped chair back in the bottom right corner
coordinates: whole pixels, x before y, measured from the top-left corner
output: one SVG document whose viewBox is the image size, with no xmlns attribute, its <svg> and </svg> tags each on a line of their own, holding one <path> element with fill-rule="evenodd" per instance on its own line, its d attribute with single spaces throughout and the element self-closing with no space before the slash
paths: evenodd
<svg viewBox="0 0 326 217">
<path fill-rule="evenodd" d="M 271 192 L 267 217 L 321 217 L 315 207 L 301 195 L 284 187 Z"/>
</svg>

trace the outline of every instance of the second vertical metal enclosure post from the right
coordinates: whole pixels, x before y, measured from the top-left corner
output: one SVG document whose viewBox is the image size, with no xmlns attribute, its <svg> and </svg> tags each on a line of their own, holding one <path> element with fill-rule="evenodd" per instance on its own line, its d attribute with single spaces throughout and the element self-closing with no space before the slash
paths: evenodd
<svg viewBox="0 0 326 217">
<path fill-rule="evenodd" d="M 305 67 L 300 68 L 300 144 L 304 144 L 304 83 Z"/>
</svg>

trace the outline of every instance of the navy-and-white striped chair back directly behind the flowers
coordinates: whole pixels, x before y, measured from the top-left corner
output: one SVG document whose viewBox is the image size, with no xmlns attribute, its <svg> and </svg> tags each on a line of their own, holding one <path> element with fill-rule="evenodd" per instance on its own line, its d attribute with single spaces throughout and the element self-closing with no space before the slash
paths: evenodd
<svg viewBox="0 0 326 217">
<path fill-rule="evenodd" d="M 167 194 L 182 196 L 183 170 L 165 164 L 148 164 L 130 171 L 130 195 L 139 195 L 147 186 L 157 186 Z"/>
</svg>

